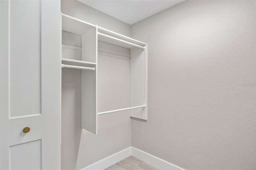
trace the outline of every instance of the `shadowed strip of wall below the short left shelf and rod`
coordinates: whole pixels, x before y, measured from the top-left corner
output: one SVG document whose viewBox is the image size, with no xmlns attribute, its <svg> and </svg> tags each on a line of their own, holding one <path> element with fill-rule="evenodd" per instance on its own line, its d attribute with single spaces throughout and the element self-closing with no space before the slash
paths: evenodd
<svg viewBox="0 0 256 170">
<path fill-rule="evenodd" d="M 82 135 L 80 77 L 79 69 L 62 69 L 61 169 L 74 169 L 78 160 Z"/>
</svg>

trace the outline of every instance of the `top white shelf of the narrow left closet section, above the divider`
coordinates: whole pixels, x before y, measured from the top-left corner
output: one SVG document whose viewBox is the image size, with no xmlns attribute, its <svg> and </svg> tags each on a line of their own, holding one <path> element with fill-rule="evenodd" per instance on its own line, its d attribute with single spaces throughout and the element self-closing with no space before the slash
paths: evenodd
<svg viewBox="0 0 256 170">
<path fill-rule="evenodd" d="M 78 35 L 84 35 L 86 32 L 96 28 L 95 25 L 84 22 L 72 16 L 62 14 L 62 30 Z"/>
</svg>

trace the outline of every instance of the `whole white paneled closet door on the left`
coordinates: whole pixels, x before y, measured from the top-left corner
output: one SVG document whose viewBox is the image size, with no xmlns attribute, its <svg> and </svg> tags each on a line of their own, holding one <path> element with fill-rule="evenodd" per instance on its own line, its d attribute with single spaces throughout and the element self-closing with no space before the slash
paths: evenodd
<svg viewBox="0 0 256 170">
<path fill-rule="evenodd" d="M 0 1 L 0 169 L 60 169 L 60 19 L 60 1 Z"/>
</svg>

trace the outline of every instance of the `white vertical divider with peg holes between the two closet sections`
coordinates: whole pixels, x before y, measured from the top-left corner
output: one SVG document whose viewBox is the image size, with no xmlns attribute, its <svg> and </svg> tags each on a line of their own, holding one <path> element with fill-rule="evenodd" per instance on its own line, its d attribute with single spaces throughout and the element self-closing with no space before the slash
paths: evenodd
<svg viewBox="0 0 256 170">
<path fill-rule="evenodd" d="M 93 28 L 82 35 L 82 61 L 96 63 L 94 71 L 82 70 L 82 128 L 97 134 L 97 55 L 98 36 L 97 29 Z"/>
</svg>

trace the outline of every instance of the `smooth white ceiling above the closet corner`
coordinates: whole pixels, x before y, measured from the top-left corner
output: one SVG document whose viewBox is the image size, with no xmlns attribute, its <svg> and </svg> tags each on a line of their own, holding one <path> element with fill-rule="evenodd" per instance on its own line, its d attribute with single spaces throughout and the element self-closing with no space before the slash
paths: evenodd
<svg viewBox="0 0 256 170">
<path fill-rule="evenodd" d="M 134 24 L 185 0 L 78 0 L 127 24 Z"/>
</svg>

